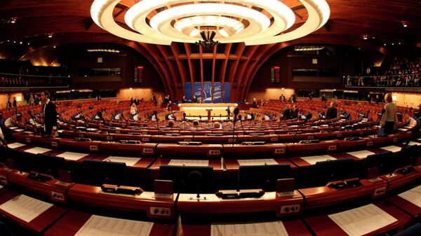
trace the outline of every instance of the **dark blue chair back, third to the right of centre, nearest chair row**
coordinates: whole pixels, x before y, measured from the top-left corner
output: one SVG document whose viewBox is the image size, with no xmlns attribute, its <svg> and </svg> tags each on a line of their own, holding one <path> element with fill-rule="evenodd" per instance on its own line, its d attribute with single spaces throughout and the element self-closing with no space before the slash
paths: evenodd
<svg viewBox="0 0 421 236">
<path fill-rule="evenodd" d="M 368 168 L 379 167 L 379 175 L 393 172 L 396 169 L 396 163 L 393 161 L 393 153 L 391 151 L 385 153 L 375 153 L 368 155 L 363 162 L 362 173 L 365 173 Z M 365 177 L 362 175 L 362 177 Z"/>
</svg>

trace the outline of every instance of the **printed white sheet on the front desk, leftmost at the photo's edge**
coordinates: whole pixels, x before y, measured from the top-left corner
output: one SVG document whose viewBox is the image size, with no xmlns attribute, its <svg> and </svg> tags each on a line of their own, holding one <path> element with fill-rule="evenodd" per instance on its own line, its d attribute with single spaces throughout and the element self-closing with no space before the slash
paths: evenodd
<svg viewBox="0 0 421 236">
<path fill-rule="evenodd" d="M 26 222 L 32 221 L 50 207 L 53 207 L 53 204 L 22 194 L 0 205 L 0 209 Z"/>
</svg>

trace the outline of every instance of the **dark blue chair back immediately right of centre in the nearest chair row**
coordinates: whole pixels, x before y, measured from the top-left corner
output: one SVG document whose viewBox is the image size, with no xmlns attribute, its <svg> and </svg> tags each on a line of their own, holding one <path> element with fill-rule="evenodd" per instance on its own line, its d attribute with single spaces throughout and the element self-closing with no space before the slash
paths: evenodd
<svg viewBox="0 0 421 236">
<path fill-rule="evenodd" d="M 290 165 L 240 165 L 238 188 L 276 190 L 276 181 L 292 177 Z"/>
</svg>

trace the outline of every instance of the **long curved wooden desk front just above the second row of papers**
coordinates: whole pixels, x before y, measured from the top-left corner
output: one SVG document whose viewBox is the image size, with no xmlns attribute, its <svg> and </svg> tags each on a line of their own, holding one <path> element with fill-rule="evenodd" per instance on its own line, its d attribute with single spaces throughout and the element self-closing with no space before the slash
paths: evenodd
<svg viewBox="0 0 421 236">
<path fill-rule="evenodd" d="M 272 158 L 285 155 L 335 153 L 337 151 L 359 150 L 373 146 L 396 144 L 399 141 L 409 139 L 410 135 L 410 133 L 403 133 L 393 134 L 387 137 L 365 137 L 356 141 L 342 139 L 309 144 L 264 144 L 252 146 L 239 144 L 203 144 L 198 146 L 156 143 L 123 144 L 121 142 L 109 141 L 77 141 L 75 139 L 65 138 L 46 138 L 25 133 L 15 133 L 13 137 L 26 144 L 88 153 L 105 152 L 111 154 L 117 153 L 119 155 L 159 156 L 162 158 Z M 172 137 L 165 138 L 171 139 Z M 185 139 L 184 141 L 189 141 L 189 139 Z"/>
</svg>

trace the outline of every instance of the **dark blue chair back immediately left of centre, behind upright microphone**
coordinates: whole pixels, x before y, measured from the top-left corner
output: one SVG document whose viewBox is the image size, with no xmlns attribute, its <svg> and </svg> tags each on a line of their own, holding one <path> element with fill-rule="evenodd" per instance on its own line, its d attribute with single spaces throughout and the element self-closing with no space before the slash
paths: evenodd
<svg viewBox="0 0 421 236">
<path fill-rule="evenodd" d="M 213 167 L 161 165 L 159 179 L 172 180 L 175 193 L 214 193 Z"/>
</svg>

